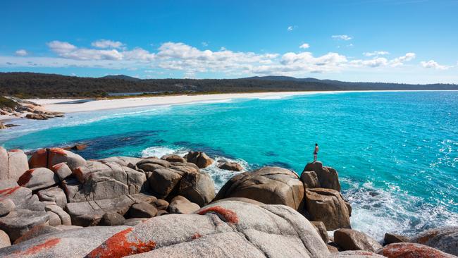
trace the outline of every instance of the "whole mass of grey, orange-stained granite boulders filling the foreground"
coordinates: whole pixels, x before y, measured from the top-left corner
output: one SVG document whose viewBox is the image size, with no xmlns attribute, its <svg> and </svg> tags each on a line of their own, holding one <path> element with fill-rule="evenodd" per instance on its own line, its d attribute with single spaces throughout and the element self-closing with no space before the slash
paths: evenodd
<svg viewBox="0 0 458 258">
<path fill-rule="evenodd" d="M 458 227 L 387 233 L 383 243 L 352 230 L 338 172 L 319 161 L 301 176 L 272 166 L 238 173 L 218 192 L 201 171 L 213 162 L 203 152 L 85 160 L 0 147 L 0 256 L 458 255 Z"/>
</svg>

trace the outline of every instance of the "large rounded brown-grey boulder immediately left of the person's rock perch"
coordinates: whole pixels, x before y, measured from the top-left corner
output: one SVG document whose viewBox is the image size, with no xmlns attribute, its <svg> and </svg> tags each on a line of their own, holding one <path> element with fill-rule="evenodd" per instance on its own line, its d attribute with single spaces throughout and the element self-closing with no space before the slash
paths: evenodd
<svg viewBox="0 0 458 258">
<path fill-rule="evenodd" d="M 296 210 L 304 206 L 304 185 L 296 173 L 266 166 L 230 178 L 214 200 L 245 197 L 264 204 L 284 204 Z"/>
</svg>

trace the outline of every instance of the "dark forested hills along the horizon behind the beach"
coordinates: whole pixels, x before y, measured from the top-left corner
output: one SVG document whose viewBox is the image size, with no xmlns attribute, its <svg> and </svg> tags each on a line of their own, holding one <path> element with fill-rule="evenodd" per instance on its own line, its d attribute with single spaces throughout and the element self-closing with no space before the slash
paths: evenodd
<svg viewBox="0 0 458 258">
<path fill-rule="evenodd" d="M 328 90 L 458 90 L 458 85 L 409 85 L 385 82 L 341 82 L 315 78 L 264 76 L 240 79 L 147 79 L 127 75 L 81 78 L 46 73 L 0 73 L 0 95 L 32 97 L 105 97 L 109 93 L 158 94 L 284 92 Z"/>
</svg>

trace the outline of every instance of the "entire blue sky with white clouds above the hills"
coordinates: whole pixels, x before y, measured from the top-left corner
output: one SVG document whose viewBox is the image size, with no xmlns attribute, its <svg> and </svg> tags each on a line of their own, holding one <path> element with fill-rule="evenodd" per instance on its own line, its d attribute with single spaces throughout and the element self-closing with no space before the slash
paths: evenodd
<svg viewBox="0 0 458 258">
<path fill-rule="evenodd" d="M 458 84 L 458 0 L 2 0 L 18 71 Z"/>
</svg>

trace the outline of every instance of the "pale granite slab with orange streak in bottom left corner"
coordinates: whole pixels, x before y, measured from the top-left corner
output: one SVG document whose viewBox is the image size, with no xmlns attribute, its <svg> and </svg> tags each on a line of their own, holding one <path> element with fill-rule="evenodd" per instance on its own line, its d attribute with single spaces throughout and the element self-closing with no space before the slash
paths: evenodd
<svg viewBox="0 0 458 258">
<path fill-rule="evenodd" d="M 128 226 L 89 227 L 39 235 L 18 245 L 0 249 L 2 258 L 68 258 L 85 257 L 104 240 Z"/>
</svg>

